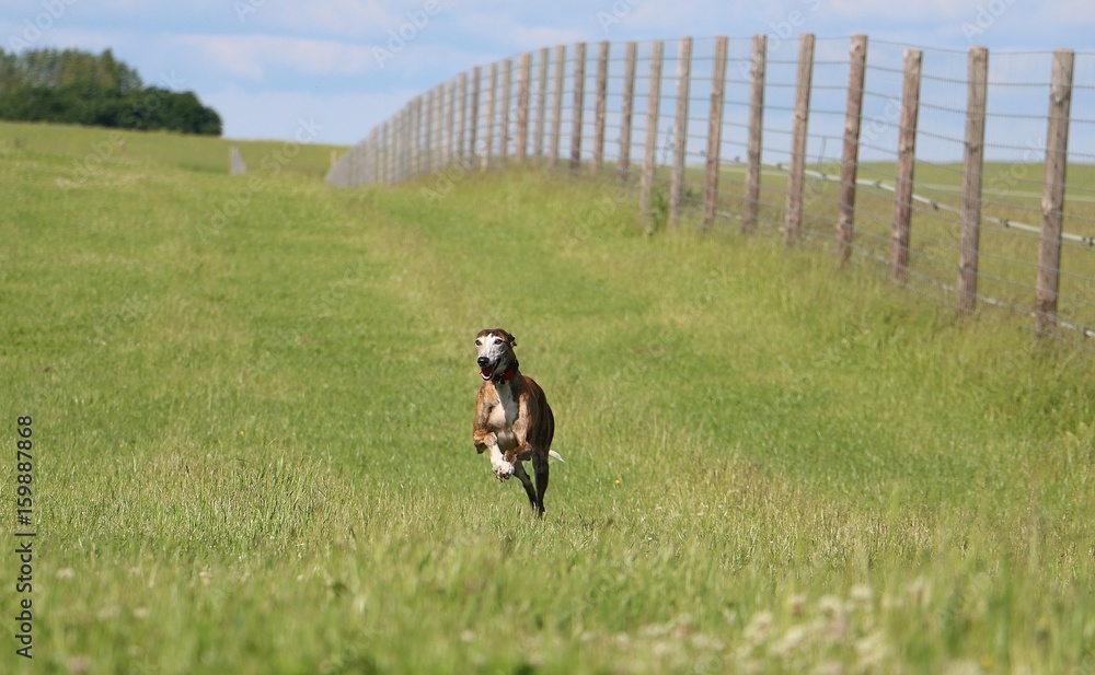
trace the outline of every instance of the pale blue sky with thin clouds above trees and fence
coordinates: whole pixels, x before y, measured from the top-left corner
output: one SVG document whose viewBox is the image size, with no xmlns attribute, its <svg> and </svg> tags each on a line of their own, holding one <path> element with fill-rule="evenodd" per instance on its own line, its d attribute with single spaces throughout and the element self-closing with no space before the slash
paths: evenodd
<svg viewBox="0 0 1095 675">
<path fill-rule="evenodd" d="M 147 84 L 197 92 L 228 137 L 288 140 L 310 120 L 330 143 L 356 142 L 461 71 L 542 46 L 799 32 L 1095 53 L 1095 0 L 0 0 L 5 50 L 111 48 Z"/>
</svg>

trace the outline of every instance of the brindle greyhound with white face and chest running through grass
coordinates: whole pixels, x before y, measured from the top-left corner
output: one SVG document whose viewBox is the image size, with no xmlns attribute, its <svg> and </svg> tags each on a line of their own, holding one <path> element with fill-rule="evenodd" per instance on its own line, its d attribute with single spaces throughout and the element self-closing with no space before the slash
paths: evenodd
<svg viewBox="0 0 1095 675">
<path fill-rule="evenodd" d="M 516 475 L 521 479 L 529 503 L 537 515 L 544 514 L 544 492 L 548 490 L 548 457 L 563 461 L 551 450 L 555 435 L 555 417 L 540 385 L 522 375 L 514 347 L 517 338 L 502 328 L 480 330 L 475 336 L 479 351 L 476 363 L 483 386 L 475 397 L 475 449 L 491 454 L 491 467 L 498 480 Z M 525 461 L 532 459 L 537 476 L 535 488 L 525 470 Z"/>
</svg>

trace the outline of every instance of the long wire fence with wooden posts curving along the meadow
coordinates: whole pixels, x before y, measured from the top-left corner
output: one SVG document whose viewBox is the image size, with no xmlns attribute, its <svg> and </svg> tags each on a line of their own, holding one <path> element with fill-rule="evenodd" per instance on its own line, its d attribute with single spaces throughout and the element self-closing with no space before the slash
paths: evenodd
<svg viewBox="0 0 1095 675">
<path fill-rule="evenodd" d="M 1095 337 L 1095 54 L 866 36 L 578 43 L 460 73 L 377 126 L 338 186 L 579 172 L 647 225 L 781 234 L 963 313 Z M 1065 208 L 1068 205 L 1068 208 Z"/>
</svg>

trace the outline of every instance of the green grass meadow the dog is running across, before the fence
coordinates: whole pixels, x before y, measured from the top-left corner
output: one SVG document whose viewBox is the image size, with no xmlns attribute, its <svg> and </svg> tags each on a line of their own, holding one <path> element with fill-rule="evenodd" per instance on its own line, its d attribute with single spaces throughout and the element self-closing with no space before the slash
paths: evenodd
<svg viewBox="0 0 1095 675">
<path fill-rule="evenodd" d="M 230 177 L 158 135 L 62 188 L 97 131 L 58 132 L 0 125 L 39 533 L 33 662 L 0 557 L 4 672 L 1095 665 L 1088 350 L 775 237 L 646 236 L 588 183 L 341 191 L 319 149 Z M 488 326 L 555 410 L 543 522 L 471 443 Z"/>
</svg>

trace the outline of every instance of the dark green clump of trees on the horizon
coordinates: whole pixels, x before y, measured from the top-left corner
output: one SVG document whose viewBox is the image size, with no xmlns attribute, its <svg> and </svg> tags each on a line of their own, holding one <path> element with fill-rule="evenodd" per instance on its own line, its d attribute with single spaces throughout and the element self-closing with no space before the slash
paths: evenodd
<svg viewBox="0 0 1095 675">
<path fill-rule="evenodd" d="M 194 92 L 146 86 L 106 49 L 0 48 L 0 119 L 220 136 L 220 115 Z"/>
</svg>

